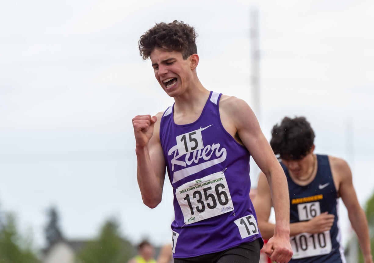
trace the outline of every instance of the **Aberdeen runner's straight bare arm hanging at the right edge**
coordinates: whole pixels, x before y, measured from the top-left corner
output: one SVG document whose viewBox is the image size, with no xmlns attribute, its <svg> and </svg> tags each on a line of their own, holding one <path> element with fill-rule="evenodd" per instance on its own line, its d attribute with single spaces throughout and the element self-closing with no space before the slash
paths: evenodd
<svg viewBox="0 0 374 263">
<path fill-rule="evenodd" d="M 358 202 L 350 168 L 342 159 L 329 157 L 329 160 L 333 176 L 339 181 L 339 195 L 347 208 L 349 221 L 357 234 L 365 263 L 373 263 L 368 221 L 364 210 Z"/>
</svg>

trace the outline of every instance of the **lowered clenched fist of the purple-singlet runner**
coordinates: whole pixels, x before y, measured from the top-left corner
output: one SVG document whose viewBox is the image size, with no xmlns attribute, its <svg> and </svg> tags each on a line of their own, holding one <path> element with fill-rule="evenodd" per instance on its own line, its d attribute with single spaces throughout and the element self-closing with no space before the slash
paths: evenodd
<svg viewBox="0 0 374 263">
<path fill-rule="evenodd" d="M 291 243 L 289 236 L 273 236 L 266 244 L 265 253 L 272 261 L 287 263 L 292 257 Z"/>
</svg>

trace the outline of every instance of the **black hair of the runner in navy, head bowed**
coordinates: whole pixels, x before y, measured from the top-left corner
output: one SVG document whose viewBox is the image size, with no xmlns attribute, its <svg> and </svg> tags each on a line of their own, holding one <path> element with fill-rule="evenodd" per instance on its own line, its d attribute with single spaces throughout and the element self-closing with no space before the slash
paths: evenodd
<svg viewBox="0 0 374 263">
<path fill-rule="evenodd" d="M 305 157 L 314 143 L 314 131 L 305 117 L 284 117 L 274 125 L 270 146 L 281 159 L 299 160 Z"/>
</svg>

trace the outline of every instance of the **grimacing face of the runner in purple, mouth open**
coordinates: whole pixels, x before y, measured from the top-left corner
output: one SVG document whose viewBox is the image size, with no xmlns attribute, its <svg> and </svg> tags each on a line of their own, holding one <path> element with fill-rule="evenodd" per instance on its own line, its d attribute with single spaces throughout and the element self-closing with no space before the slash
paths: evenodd
<svg viewBox="0 0 374 263">
<path fill-rule="evenodd" d="M 181 52 L 155 48 L 150 58 L 154 76 L 170 97 L 174 97 L 178 91 L 183 91 L 187 87 L 188 80 L 192 79 L 190 57 L 183 60 Z"/>
</svg>

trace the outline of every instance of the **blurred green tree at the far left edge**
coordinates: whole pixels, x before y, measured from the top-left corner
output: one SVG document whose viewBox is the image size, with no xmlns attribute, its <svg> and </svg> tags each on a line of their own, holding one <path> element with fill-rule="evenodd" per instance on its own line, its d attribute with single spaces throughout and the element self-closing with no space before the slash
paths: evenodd
<svg viewBox="0 0 374 263">
<path fill-rule="evenodd" d="M 39 263 L 31 244 L 31 236 L 19 233 L 15 215 L 5 214 L 0 226 L 1 263 Z"/>
</svg>

